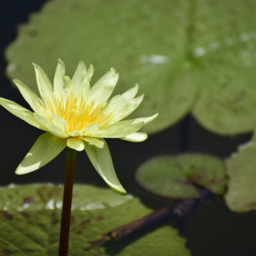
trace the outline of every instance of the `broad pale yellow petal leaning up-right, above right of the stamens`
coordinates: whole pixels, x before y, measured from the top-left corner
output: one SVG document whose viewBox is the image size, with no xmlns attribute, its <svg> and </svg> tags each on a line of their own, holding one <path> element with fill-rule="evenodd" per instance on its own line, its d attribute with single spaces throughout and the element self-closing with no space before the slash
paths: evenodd
<svg viewBox="0 0 256 256">
<path fill-rule="evenodd" d="M 92 101 L 94 101 L 96 106 L 105 103 L 112 94 L 118 78 L 119 74 L 116 73 L 114 68 L 110 69 L 108 73 L 99 78 L 92 89 L 90 89 L 88 105 L 90 105 Z"/>
</svg>

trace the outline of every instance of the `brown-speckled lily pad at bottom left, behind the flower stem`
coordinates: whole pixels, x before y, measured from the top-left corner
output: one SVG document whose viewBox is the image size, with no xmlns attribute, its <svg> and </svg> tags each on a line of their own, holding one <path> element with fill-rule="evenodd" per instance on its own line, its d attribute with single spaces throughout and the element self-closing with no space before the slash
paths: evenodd
<svg viewBox="0 0 256 256">
<path fill-rule="evenodd" d="M 63 187 L 21 185 L 0 189 L 0 255 L 58 255 Z M 132 196 L 75 185 L 69 255 L 190 255 L 171 226 L 92 247 L 101 235 L 149 214 Z"/>
</svg>

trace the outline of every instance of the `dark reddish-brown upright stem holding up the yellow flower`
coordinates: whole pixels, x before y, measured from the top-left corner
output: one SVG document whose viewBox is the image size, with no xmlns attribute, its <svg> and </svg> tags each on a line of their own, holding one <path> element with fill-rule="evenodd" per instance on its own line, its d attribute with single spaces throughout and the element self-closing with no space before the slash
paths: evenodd
<svg viewBox="0 0 256 256">
<path fill-rule="evenodd" d="M 74 183 L 74 167 L 76 166 L 76 150 L 67 148 L 65 184 L 62 204 L 62 221 L 60 225 L 59 256 L 67 256 L 69 250 L 69 226 Z"/>
</svg>

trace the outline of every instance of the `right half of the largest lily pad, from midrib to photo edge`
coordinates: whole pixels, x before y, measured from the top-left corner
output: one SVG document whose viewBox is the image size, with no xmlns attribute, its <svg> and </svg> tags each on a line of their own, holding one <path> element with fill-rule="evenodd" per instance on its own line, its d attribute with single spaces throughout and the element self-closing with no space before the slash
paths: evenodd
<svg viewBox="0 0 256 256">
<path fill-rule="evenodd" d="M 196 2 L 193 55 L 201 89 L 192 113 L 212 132 L 250 132 L 256 127 L 256 2 Z"/>
</svg>

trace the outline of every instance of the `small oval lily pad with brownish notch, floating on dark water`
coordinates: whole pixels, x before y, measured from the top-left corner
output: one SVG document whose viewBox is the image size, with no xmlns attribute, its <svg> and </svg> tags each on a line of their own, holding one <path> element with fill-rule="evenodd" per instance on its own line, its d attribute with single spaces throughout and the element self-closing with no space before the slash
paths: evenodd
<svg viewBox="0 0 256 256">
<path fill-rule="evenodd" d="M 198 198 L 194 184 L 223 194 L 226 185 L 223 161 L 197 153 L 152 158 L 137 169 L 135 179 L 147 191 L 167 198 Z"/>
</svg>

